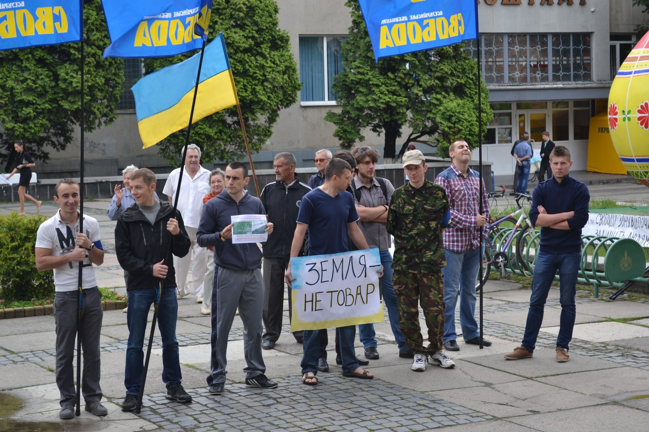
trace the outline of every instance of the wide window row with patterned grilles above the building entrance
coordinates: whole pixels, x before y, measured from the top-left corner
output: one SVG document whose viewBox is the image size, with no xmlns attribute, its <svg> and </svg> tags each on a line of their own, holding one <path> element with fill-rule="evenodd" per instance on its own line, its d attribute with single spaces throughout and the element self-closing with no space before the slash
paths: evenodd
<svg viewBox="0 0 649 432">
<path fill-rule="evenodd" d="M 487 84 L 591 80 L 588 33 L 483 34 L 480 47 Z M 477 48 L 478 43 L 467 43 L 467 53 L 474 59 Z"/>
</svg>

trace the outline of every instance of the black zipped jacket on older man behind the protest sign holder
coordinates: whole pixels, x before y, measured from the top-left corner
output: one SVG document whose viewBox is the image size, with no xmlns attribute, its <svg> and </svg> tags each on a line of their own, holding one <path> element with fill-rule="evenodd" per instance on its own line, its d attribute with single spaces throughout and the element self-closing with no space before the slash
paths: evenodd
<svg viewBox="0 0 649 432">
<path fill-rule="evenodd" d="M 262 190 L 263 208 L 266 209 L 268 221 L 273 223 L 273 235 L 263 245 L 263 258 L 288 258 L 291 254 L 300 203 L 302 197 L 311 191 L 310 187 L 300 182 L 297 175 L 295 180 L 289 187 L 284 182 L 276 181 L 267 184 Z"/>
</svg>

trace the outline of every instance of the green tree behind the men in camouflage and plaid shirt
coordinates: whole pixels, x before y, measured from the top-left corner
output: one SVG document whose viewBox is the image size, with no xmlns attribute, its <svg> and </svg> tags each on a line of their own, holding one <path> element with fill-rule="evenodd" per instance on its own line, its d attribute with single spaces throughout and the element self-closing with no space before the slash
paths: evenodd
<svg viewBox="0 0 649 432">
<path fill-rule="evenodd" d="M 334 78 L 333 88 L 340 112 L 330 111 L 324 119 L 336 125 L 334 136 L 343 148 L 363 141 L 365 128 L 384 134 L 384 157 L 395 158 L 397 139 L 404 128 L 412 130 L 402 141 L 437 145 L 440 156 L 448 157 L 448 145 L 464 138 L 478 145 L 478 66 L 459 43 L 432 51 L 419 51 L 374 61 L 372 45 L 358 1 L 351 8 L 352 26 L 343 43 L 343 72 Z M 489 92 L 482 86 L 482 136 L 493 117 Z M 425 141 L 424 141 L 425 140 Z"/>
</svg>

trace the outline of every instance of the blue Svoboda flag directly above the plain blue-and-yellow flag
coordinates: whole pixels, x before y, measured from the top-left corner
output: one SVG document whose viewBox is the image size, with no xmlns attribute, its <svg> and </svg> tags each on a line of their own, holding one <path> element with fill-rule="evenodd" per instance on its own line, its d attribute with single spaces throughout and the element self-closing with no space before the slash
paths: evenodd
<svg viewBox="0 0 649 432">
<path fill-rule="evenodd" d="M 104 57 L 166 57 L 201 49 L 201 36 L 207 32 L 212 7 L 212 1 L 208 0 L 102 0 L 101 3 L 110 36 Z M 195 33 L 197 27 L 202 32 Z"/>
</svg>

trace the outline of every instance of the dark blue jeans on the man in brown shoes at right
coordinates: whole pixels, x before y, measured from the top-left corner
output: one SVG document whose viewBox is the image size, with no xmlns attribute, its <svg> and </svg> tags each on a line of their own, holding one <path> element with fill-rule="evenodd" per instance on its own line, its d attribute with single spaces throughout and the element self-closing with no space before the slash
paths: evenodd
<svg viewBox="0 0 649 432">
<path fill-rule="evenodd" d="M 541 330 L 541 323 L 543 322 L 543 307 L 557 270 L 559 270 L 559 302 L 561 302 L 557 348 L 568 349 L 568 344 L 572 339 L 572 328 L 574 327 L 576 315 L 574 296 L 581 258 L 582 254 L 539 252 L 532 278 L 530 310 L 528 311 L 525 335 L 521 344 L 526 350 L 533 351 L 535 348 L 536 338 L 539 336 L 539 330 Z"/>
</svg>

